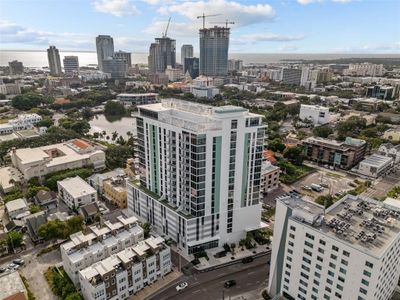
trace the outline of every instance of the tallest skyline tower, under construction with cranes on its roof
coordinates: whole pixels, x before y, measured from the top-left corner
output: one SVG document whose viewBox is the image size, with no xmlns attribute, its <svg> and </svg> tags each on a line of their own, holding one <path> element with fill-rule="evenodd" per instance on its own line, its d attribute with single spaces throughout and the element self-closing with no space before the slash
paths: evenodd
<svg viewBox="0 0 400 300">
<path fill-rule="evenodd" d="M 200 75 L 226 76 L 230 28 L 200 29 Z"/>
</svg>

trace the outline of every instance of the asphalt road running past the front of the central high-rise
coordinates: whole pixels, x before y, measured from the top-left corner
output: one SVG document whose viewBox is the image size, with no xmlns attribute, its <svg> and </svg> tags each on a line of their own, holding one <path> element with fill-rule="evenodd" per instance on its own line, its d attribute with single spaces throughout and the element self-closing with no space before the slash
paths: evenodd
<svg viewBox="0 0 400 300">
<path fill-rule="evenodd" d="M 205 273 L 196 273 L 191 276 L 183 275 L 167 287 L 153 294 L 147 300 L 204 300 L 225 299 L 242 294 L 253 293 L 249 299 L 260 298 L 261 291 L 266 289 L 269 275 L 270 255 L 255 259 L 248 264 L 238 263 Z M 237 285 L 224 288 L 227 280 L 236 280 Z M 186 289 L 177 292 L 178 283 L 186 281 Z"/>
</svg>

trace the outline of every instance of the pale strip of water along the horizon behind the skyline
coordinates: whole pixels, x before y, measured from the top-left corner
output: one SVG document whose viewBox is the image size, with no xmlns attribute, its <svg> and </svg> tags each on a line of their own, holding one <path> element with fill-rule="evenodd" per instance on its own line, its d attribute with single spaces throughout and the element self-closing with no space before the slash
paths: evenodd
<svg viewBox="0 0 400 300">
<path fill-rule="evenodd" d="M 66 55 L 77 55 L 79 57 L 80 66 L 97 64 L 96 52 L 71 52 L 60 51 L 61 60 Z M 147 53 L 132 53 L 133 64 L 147 64 Z M 195 54 L 198 55 L 198 54 Z M 177 53 L 177 58 L 180 54 Z M 400 58 L 400 54 L 348 54 L 348 53 L 324 53 L 324 54 L 298 54 L 298 53 L 231 53 L 230 58 L 242 59 L 245 64 L 256 63 L 277 63 L 281 60 L 330 60 L 339 58 Z M 47 53 L 46 51 L 13 51 L 0 50 L 0 66 L 8 65 L 12 60 L 19 60 L 26 67 L 46 67 Z M 178 59 L 179 61 L 179 59 Z"/>
</svg>

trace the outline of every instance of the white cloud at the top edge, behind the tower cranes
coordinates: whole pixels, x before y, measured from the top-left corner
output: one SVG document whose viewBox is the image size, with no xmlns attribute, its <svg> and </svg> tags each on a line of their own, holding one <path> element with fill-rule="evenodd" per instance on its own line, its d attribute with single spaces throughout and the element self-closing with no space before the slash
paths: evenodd
<svg viewBox="0 0 400 300">
<path fill-rule="evenodd" d="M 210 17 L 206 21 L 224 22 L 226 19 L 234 21 L 236 26 L 245 26 L 265 21 L 271 21 L 275 17 L 274 9 L 268 4 L 241 4 L 235 1 L 227 0 L 207 0 L 191 2 L 185 1 L 178 4 L 164 5 L 158 10 L 161 14 L 176 13 L 196 21 L 198 27 L 201 26 L 201 20 L 197 21 L 197 16 L 215 15 L 219 16 Z"/>
</svg>

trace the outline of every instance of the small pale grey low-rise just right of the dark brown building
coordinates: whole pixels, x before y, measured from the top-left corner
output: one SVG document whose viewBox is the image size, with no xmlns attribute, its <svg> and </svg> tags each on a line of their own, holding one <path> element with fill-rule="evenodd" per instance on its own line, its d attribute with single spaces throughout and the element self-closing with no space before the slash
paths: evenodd
<svg viewBox="0 0 400 300">
<path fill-rule="evenodd" d="M 392 157 L 372 154 L 362 160 L 360 164 L 352 170 L 366 177 L 378 178 L 389 172 L 393 167 L 393 162 Z"/>
</svg>

